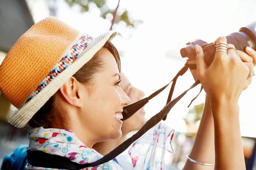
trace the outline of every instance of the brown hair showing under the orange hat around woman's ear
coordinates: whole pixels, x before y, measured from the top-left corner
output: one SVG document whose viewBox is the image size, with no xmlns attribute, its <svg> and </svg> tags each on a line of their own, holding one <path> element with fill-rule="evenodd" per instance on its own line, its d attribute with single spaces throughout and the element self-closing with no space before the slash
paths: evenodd
<svg viewBox="0 0 256 170">
<path fill-rule="evenodd" d="M 102 48 L 108 49 L 116 59 L 116 63 L 120 72 L 120 57 L 115 46 L 107 41 Z M 93 83 L 93 75 L 99 73 L 104 69 L 104 63 L 100 57 L 102 54 L 102 48 L 88 61 L 83 67 L 73 75 L 79 82 L 84 84 Z M 53 120 L 55 119 L 56 107 L 54 94 L 44 106 L 29 120 L 29 127 L 44 127 L 50 128 L 53 126 Z"/>
</svg>

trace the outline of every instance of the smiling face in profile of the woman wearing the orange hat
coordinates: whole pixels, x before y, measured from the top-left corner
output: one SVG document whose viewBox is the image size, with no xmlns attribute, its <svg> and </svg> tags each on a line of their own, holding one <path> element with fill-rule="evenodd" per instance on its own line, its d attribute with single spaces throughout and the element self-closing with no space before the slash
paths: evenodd
<svg viewBox="0 0 256 170">
<path fill-rule="evenodd" d="M 110 51 L 101 51 L 104 70 L 96 73 L 92 85 L 84 85 L 85 99 L 80 120 L 84 132 L 98 142 L 119 139 L 122 135 L 122 108 L 131 101 L 119 86 L 120 75 L 116 60 Z"/>
</svg>

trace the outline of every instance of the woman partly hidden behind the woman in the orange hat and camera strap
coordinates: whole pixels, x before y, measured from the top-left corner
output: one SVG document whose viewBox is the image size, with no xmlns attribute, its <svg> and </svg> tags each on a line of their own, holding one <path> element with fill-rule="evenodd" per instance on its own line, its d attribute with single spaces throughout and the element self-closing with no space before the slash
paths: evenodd
<svg viewBox="0 0 256 170">
<path fill-rule="evenodd" d="M 131 100 L 131 104 L 135 103 L 141 99 L 143 99 L 143 97 L 145 96 L 145 94 L 143 93 L 143 91 L 135 88 L 133 85 L 131 85 L 131 82 L 129 81 L 129 79 L 125 76 L 125 74 L 121 71 L 121 79 L 122 81 L 120 82 L 120 87 L 125 91 L 125 93 L 128 95 L 128 97 Z M 143 127 L 143 125 L 145 125 L 146 119 L 145 119 L 145 111 L 144 111 L 144 107 L 141 108 L 139 111 L 137 111 L 136 113 L 134 113 L 133 116 L 131 116 L 129 119 L 123 121 L 122 124 L 122 136 L 120 139 L 116 139 L 116 140 L 108 140 L 108 141 L 104 141 L 104 142 L 99 142 L 93 145 L 93 149 L 97 150 L 97 152 L 101 153 L 102 155 L 106 155 L 109 152 L 111 152 L 111 150 L 115 149 L 116 147 L 119 146 L 119 144 L 122 144 L 123 142 L 125 142 L 127 138 L 127 134 L 135 131 L 135 130 L 140 130 L 141 127 Z M 158 127 L 161 127 L 161 133 L 159 133 Z M 155 130 L 157 129 L 157 130 Z M 152 142 L 151 140 L 145 140 L 144 139 L 153 139 L 154 136 L 158 136 L 158 140 L 162 136 L 163 134 L 163 130 L 167 133 L 167 135 L 172 136 L 174 133 L 174 130 L 172 130 L 171 128 L 165 126 L 164 124 L 159 123 L 158 125 L 156 125 L 155 127 L 152 127 L 151 130 L 148 130 L 147 133 L 145 133 L 139 140 L 137 140 L 137 142 L 134 142 L 134 144 L 131 145 L 131 147 L 129 147 L 127 150 L 125 150 L 125 152 L 121 153 L 119 156 L 117 156 L 114 160 L 122 167 L 123 170 L 131 170 L 131 169 L 155 169 L 158 170 L 161 168 L 161 166 L 164 166 L 164 162 L 161 162 L 161 156 L 156 156 L 156 153 L 162 153 L 162 150 L 168 150 L 167 148 L 170 148 L 171 150 L 169 151 L 173 151 L 172 150 L 172 146 L 171 146 L 171 140 L 168 139 L 166 140 L 166 142 L 164 142 L 162 145 L 161 144 L 157 144 L 157 149 L 155 151 L 151 151 L 151 153 L 148 151 L 150 150 L 150 147 L 154 147 L 151 146 Z M 163 147 L 165 145 L 165 147 Z M 154 165 L 151 165 L 148 167 L 148 162 L 145 161 L 145 156 L 144 157 L 139 157 L 140 155 L 142 155 L 142 153 L 144 152 L 144 150 L 147 151 L 147 156 L 152 156 L 154 157 L 153 159 L 151 159 L 150 161 L 153 162 L 154 161 Z M 138 158 L 138 159 L 136 159 Z M 149 163 L 150 164 L 150 163 Z"/>
</svg>

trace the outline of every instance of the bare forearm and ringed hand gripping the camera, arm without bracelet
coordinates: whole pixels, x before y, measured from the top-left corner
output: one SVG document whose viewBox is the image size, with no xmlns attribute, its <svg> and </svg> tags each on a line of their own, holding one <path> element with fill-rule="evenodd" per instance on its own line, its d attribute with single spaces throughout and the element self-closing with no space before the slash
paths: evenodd
<svg viewBox="0 0 256 170">
<path fill-rule="evenodd" d="M 227 42 L 227 39 L 219 37 L 218 42 Z M 231 44 L 228 46 L 234 47 Z M 216 51 L 212 64 L 207 68 L 203 49 L 197 46 L 196 52 L 198 79 L 211 101 L 215 169 L 245 170 L 238 99 L 246 85 L 250 84 L 248 74 L 253 71 L 252 61 L 244 53 L 237 55 L 234 49 Z"/>
</svg>

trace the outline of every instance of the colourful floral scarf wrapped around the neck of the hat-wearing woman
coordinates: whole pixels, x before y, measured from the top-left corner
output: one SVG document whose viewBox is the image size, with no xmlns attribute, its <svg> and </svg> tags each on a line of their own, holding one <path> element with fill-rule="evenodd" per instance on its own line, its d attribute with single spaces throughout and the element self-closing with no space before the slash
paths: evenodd
<svg viewBox="0 0 256 170">
<path fill-rule="evenodd" d="M 87 164 L 101 159 L 103 156 L 94 149 L 86 147 L 71 130 L 33 128 L 29 134 L 31 150 L 63 156 L 78 164 Z M 55 168 L 34 167 L 27 164 L 28 170 L 56 170 Z M 122 170 L 116 161 L 108 161 L 96 167 L 83 170 Z"/>
</svg>

